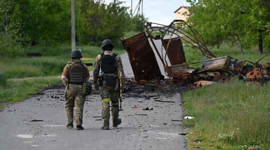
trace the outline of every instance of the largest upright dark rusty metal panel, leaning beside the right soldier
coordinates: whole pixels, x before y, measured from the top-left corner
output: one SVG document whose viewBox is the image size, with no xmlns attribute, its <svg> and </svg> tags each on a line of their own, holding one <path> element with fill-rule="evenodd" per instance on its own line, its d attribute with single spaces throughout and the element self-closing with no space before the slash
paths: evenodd
<svg viewBox="0 0 270 150">
<path fill-rule="evenodd" d="M 152 47 L 144 32 L 122 40 L 128 54 L 135 80 L 162 79 Z"/>
</svg>

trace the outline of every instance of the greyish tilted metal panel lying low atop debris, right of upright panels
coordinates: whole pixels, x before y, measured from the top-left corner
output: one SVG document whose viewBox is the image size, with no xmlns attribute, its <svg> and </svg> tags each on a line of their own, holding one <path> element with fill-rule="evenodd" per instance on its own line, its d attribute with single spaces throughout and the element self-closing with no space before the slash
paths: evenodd
<svg viewBox="0 0 270 150">
<path fill-rule="evenodd" d="M 230 58 L 230 56 L 223 56 L 202 61 L 202 67 L 198 70 L 198 72 L 219 70 L 225 67 L 229 68 Z"/>
</svg>

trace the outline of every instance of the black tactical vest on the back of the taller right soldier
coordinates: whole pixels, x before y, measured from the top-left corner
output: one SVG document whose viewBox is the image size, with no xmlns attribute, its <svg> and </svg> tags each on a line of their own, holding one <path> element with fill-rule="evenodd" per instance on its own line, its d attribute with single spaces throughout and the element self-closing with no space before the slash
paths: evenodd
<svg viewBox="0 0 270 150">
<path fill-rule="evenodd" d="M 114 73 L 116 71 L 116 55 L 113 53 L 112 55 L 101 53 L 101 63 L 100 68 L 104 73 Z"/>
</svg>

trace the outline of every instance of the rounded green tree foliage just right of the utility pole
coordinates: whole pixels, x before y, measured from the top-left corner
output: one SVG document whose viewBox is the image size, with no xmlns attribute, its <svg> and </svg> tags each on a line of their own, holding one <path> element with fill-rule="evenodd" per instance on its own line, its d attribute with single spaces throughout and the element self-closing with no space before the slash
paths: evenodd
<svg viewBox="0 0 270 150">
<path fill-rule="evenodd" d="M 82 41 L 92 41 L 99 45 L 106 38 L 114 42 L 124 35 L 128 26 L 127 7 L 115 0 L 105 5 L 103 1 L 81 0 Z"/>
</svg>

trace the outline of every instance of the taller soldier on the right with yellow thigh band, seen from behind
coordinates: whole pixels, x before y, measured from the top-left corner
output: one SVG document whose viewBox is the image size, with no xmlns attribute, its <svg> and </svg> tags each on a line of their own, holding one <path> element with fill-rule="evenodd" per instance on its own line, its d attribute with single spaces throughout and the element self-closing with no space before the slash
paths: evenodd
<svg viewBox="0 0 270 150">
<path fill-rule="evenodd" d="M 101 43 L 103 53 L 97 55 L 93 70 L 93 83 L 95 89 L 100 86 L 100 96 L 102 98 L 102 119 L 101 129 L 109 129 L 109 101 L 111 101 L 112 126 L 117 127 L 121 123 L 119 116 L 119 81 L 124 80 L 124 72 L 121 57 L 112 52 L 113 44 L 111 40 L 105 39 Z M 101 72 L 99 70 L 101 68 Z M 98 84 L 97 84 L 98 81 Z"/>
</svg>

